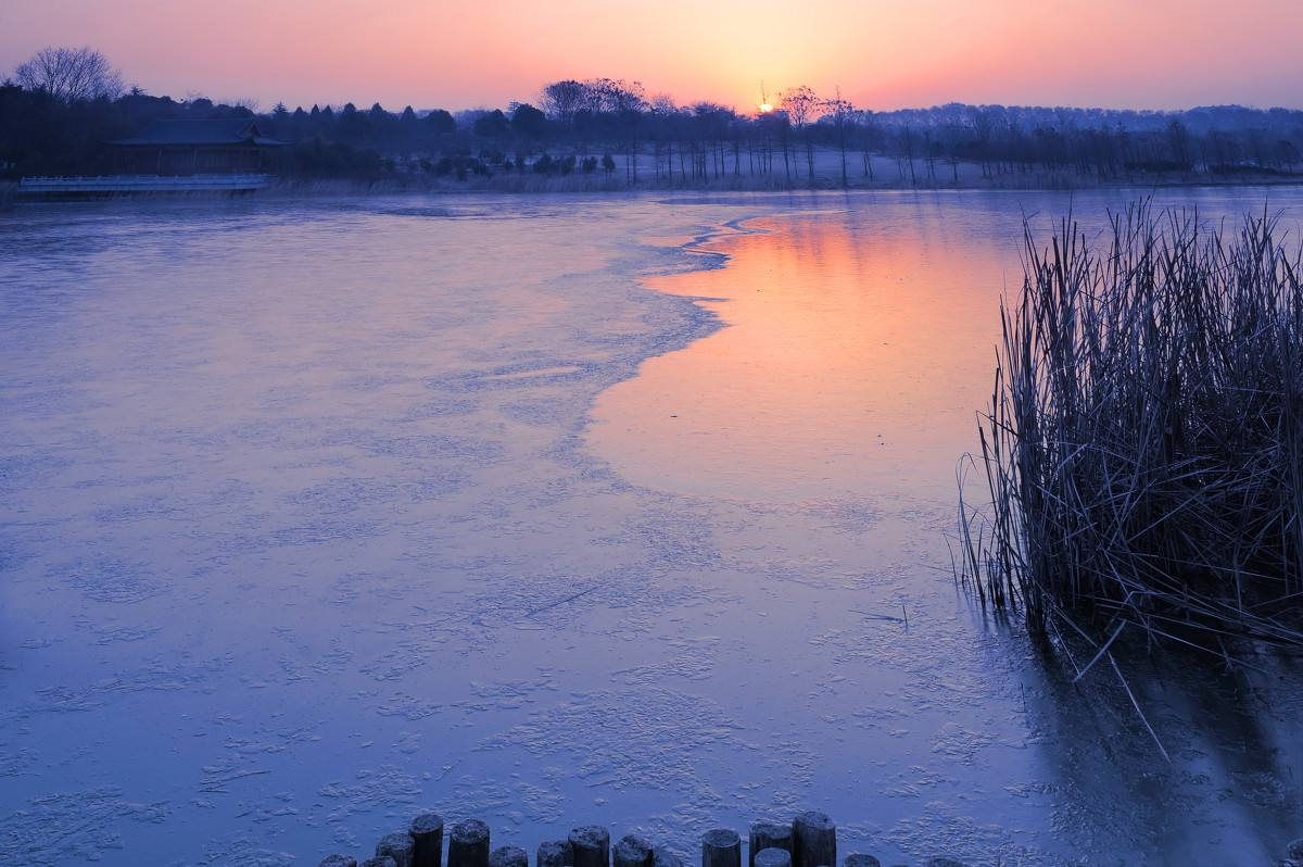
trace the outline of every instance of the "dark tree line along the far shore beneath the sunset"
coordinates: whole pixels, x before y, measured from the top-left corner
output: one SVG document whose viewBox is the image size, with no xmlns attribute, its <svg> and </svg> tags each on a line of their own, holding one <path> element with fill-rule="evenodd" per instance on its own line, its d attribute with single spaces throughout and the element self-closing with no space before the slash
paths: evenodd
<svg viewBox="0 0 1303 867">
<path fill-rule="evenodd" d="M 315 177 L 602 172 L 628 185 L 761 179 L 774 186 L 933 186 L 1028 173 L 1140 180 L 1294 175 L 1303 112 L 1238 106 L 1179 112 L 947 104 L 874 112 L 791 87 L 766 111 L 679 106 L 640 82 L 562 80 L 530 102 L 452 112 L 218 104 L 124 90 L 90 48 L 38 52 L 0 83 L 0 171 L 106 171 L 106 141 L 158 119 L 248 116 L 292 142 L 283 171 Z M 619 160 L 616 160 L 619 156 Z M 886 176 L 883 176 L 886 173 Z"/>
</svg>

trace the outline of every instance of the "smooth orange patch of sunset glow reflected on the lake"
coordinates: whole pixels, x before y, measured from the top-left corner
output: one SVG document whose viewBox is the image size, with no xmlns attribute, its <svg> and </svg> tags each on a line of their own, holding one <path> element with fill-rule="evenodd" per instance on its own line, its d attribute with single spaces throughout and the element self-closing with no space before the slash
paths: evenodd
<svg viewBox="0 0 1303 867">
<path fill-rule="evenodd" d="M 915 209 L 909 209 L 915 210 Z M 592 439 L 635 482 L 758 499 L 943 485 L 989 386 L 1005 245 L 963 215 L 749 223 L 724 270 L 661 278 L 728 326 L 606 391 Z M 975 215 L 976 216 L 976 215 Z M 993 279 L 994 278 L 994 279 Z M 985 284 L 985 286 L 984 286 Z"/>
</svg>

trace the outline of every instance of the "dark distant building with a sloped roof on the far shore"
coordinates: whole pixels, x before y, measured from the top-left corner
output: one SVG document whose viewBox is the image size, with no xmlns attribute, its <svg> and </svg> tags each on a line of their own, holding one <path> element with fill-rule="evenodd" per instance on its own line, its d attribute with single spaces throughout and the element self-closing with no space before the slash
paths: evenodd
<svg viewBox="0 0 1303 867">
<path fill-rule="evenodd" d="M 268 138 L 251 117 L 155 120 L 133 138 L 108 142 L 120 172 L 219 175 L 267 172 L 272 154 L 289 142 Z"/>
</svg>

